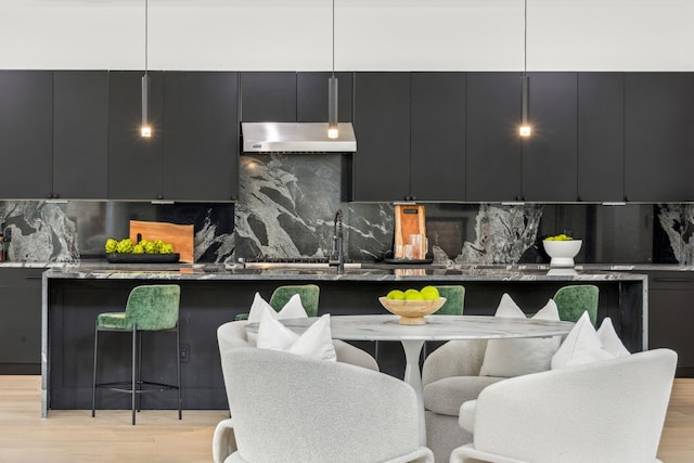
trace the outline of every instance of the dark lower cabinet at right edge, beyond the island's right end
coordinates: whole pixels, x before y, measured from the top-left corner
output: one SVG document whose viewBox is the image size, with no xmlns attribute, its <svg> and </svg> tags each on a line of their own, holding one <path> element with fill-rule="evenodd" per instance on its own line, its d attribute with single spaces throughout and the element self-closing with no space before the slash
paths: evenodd
<svg viewBox="0 0 694 463">
<path fill-rule="evenodd" d="M 678 353 L 677 375 L 694 377 L 694 273 L 648 272 L 648 349 Z"/>
</svg>

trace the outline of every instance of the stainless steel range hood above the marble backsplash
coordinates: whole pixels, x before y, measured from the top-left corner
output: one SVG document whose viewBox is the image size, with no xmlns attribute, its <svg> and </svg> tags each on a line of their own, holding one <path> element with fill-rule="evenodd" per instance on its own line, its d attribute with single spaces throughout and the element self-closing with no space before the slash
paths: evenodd
<svg viewBox="0 0 694 463">
<path fill-rule="evenodd" d="M 348 153 L 357 151 L 351 123 L 339 123 L 327 138 L 327 123 L 241 123 L 245 153 Z"/>
</svg>

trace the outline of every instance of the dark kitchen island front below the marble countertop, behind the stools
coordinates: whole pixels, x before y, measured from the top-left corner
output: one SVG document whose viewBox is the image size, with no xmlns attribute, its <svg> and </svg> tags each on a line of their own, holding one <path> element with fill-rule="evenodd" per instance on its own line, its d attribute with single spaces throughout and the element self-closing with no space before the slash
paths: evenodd
<svg viewBox="0 0 694 463">
<path fill-rule="evenodd" d="M 48 290 L 48 408 L 85 410 L 91 407 L 94 320 L 101 312 L 123 311 L 130 290 L 137 284 L 171 283 L 181 286 L 179 326 L 181 345 L 188 357 L 181 364 L 183 408 L 187 410 L 223 410 L 228 407 L 221 372 L 217 327 L 247 312 L 256 292 L 269 299 L 281 284 L 306 284 L 316 280 L 115 280 L 47 279 Z M 451 280 L 403 281 L 320 280 L 319 314 L 385 313 L 377 298 L 393 288 L 422 287 L 425 284 L 451 284 Z M 493 314 L 501 295 L 509 293 L 529 312 L 540 309 L 556 290 L 569 281 L 463 281 L 465 314 Z M 642 350 L 641 281 L 601 281 L 599 320 L 611 317 L 627 348 Z M 108 333 L 101 337 L 100 378 L 117 381 L 130 377 L 130 337 Z M 143 375 L 167 383 L 176 375 L 168 333 L 150 333 L 143 337 Z M 375 343 L 354 343 L 374 353 Z M 434 346 L 432 346 L 434 347 Z M 432 349 L 429 349 L 430 351 Z M 381 343 L 381 371 L 395 377 L 404 373 L 404 353 L 399 343 Z M 147 377 L 145 377 L 146 380 Z M 100 391 L 98 409 L 129 409 L 127 395 Z M 175 409 L 175 394 L 145 395 L 143 409 Z"/>
</svg>

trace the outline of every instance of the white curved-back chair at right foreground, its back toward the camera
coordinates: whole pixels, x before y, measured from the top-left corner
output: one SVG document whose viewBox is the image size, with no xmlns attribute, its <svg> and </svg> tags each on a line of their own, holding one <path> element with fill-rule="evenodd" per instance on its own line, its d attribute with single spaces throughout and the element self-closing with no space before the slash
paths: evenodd
<svg viewBox="0 0 694 463">
<path fill-rule="evenodd" d="M 677 353 L 655 349 L 516 376 L 461 407 L 450 463 L 658 462 Z"/>
</svg>

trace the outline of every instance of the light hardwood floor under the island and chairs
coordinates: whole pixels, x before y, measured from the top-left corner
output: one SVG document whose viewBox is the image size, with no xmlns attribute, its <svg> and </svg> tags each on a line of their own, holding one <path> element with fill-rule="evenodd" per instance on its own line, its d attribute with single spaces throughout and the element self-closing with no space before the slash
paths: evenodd
<svg viewBox="0 0 694 463">
<path fill-rule="evenodd" d="M 40 417 L 40 377 L 0 376 L 0 462 L 211 462 L 223 411 L 51 411 Z M 694 380 L 676 380 L 658 458 L 694 462 Z"/>
</svg>

